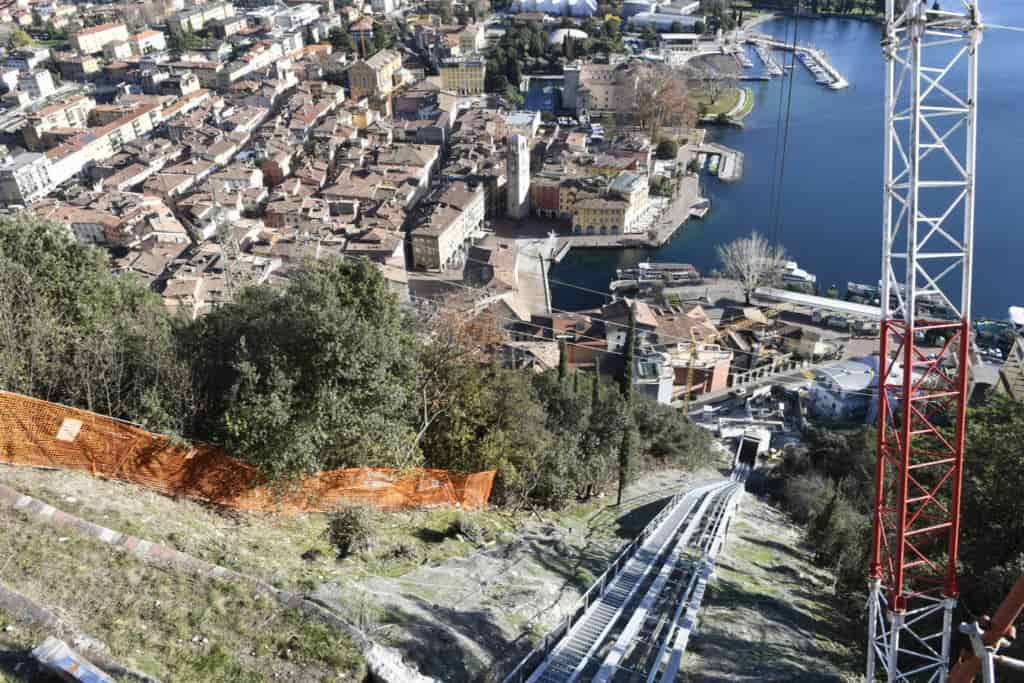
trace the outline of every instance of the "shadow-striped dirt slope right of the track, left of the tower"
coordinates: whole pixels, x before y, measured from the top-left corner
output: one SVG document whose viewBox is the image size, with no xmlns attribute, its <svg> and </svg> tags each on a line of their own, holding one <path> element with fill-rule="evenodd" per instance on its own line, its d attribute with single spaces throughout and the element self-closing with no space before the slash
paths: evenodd
<svg viewBox="0 0 1024 683">
<path fill-rule="evenodd" d="M 859 680 L 860 653 L 844 644 L 851 625 L 831 594 L 831 573 L 811 562 L 801 530 L 746 494 L 709 584 L 683 680 Z"/>
</svg>

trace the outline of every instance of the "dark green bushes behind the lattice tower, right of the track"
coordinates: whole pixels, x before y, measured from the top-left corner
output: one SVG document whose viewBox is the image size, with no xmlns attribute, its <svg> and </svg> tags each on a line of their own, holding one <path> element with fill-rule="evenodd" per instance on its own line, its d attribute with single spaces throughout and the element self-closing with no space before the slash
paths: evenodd
<svg viewBox="0 0 1024 683">
<path fill-rule="evenodd" d="M 1024 574 L 1024 403 L 993 398 L 968 414 L 961 531 L 964 617 L 992 613 Z M 867 428 L 811 428 L 770 485 L 806 525 L 815 558 L 837 571 L 837 595 L 860 616 L 866 593 L 874 435 Z M 860 635 L 858 633 L 858 635 Z"/>
</svg>

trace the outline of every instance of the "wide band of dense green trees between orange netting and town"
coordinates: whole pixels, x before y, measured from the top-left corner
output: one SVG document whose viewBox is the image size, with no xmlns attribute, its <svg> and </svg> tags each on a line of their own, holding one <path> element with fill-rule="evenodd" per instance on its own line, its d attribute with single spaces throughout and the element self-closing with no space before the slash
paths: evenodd
<svg viewBox="0 0 1024 683">
<path fill-rule="evenodd" d="M 0 220 L 0 389 L 212 441 L 270 479 L 496 469 L 494 501 L 558 507 L 615 481 L 624 430 L 634 471 L 703 453 L 707 436 L 671 409 L 564 367 L 483 362 L 496 339 L 486 323 L 411 315 L 372 264 L 341 259 L 172 316 L 63 228 Z"/>
</svg>

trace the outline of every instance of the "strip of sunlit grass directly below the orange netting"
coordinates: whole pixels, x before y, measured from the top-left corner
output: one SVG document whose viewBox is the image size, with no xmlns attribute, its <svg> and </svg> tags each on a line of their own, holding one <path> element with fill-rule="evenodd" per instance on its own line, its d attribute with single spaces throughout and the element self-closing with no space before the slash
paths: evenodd
<svg viewBox="0 0 1024 683">
<path fill-rule="evenodd" d="M 300 592 L 342 578 L 400 577 L 421 564 L 465 556 L 477 545 L 447 533 L 460 514 L 471 518 L 489 539 L 525 518 L 456 510 L 377 514 L 374 549 L 339 561 L 326 535 L 326 514 L 227 513 L 81 472 L 0 467 L 0 477 L 17 490 L 83 519 Z M 412 552 L 396 552 L 399 547 Z"/>
</svg>

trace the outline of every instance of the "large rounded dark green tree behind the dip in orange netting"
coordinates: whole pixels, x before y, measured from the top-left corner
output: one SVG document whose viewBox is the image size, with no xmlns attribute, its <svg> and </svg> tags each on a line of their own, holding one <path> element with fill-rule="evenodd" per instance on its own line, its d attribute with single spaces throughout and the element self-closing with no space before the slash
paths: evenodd
<svg viewBox="0 0 1024 683">
<path fill-rule="evenodd" d="M 271 476 L 419 464 L 403 412 L 413 349 L 369 262 L 311 261 L 250 287 L 191 330 L 199 423 Z"/>
</svg>

